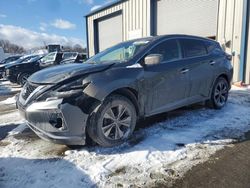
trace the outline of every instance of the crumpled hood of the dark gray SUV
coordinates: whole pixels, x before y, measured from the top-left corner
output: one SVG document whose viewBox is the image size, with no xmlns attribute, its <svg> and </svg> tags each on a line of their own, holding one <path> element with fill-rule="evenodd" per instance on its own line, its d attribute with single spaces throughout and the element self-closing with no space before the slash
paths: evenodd
<svg viewBox="0 0 250 188">
<path fill-rule="evenodd" d="M 75 76 L 104 71 L 111 66 L 112 64 L 58 65 L 58 66 L 46 68 L 46 69 L 36 72 L 35 74 L 29 77 L 28 81 L 32 83 L 37 83 L 37 84 L 57 84 L 61 81 L 64 81 L 66 79 L 69 79 Z"/>
</svg>

